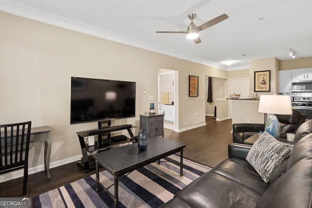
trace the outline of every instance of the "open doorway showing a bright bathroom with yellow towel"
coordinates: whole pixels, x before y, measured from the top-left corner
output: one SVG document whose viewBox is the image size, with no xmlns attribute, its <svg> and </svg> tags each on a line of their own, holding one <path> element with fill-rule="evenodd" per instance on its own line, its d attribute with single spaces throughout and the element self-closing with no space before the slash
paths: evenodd
<svg viewBox="0 0 312 208">
<path fill-rule="evenodd" d="M 178 71 L 158 68 L 158 113 L 165 113 L 164 128 L 177 132 Z"/>
</svg>

